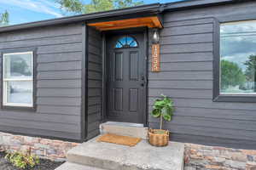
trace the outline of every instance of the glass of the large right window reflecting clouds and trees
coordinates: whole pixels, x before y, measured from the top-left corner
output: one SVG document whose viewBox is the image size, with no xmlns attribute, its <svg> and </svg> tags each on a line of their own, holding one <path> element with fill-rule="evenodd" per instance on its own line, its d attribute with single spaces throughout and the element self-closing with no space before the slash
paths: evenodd
<svg viewBox="0 0 256 170">
<path fill-rule="evenodd" d="M 256 94 L 256 21 L 220 26 L 220 93 Z"/>
</svg>

